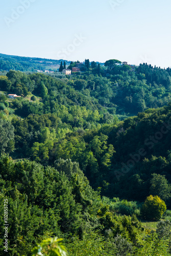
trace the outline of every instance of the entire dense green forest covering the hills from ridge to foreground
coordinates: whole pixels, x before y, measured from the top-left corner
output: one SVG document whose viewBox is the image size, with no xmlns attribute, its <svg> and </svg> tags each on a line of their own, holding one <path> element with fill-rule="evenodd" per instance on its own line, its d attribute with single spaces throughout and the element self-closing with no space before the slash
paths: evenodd
<svg viewBox="0 0 171 256">
<path fill-rule="evenodd" d="M 71 256 L 170 255 L 170 69 L 86 59 L 70 76 L 6 70 L 0 223 L 8 200 L 9 255 L 54 237 Z M 1 253 L 3 243 L 1 230 Z"/>
</svg>

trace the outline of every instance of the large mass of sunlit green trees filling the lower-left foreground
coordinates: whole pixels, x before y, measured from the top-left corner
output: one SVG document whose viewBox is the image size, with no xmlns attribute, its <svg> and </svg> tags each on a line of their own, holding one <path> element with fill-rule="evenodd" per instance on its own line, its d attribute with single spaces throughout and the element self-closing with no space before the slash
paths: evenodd
<svg viewBox="0 0 171 256">
<path fill-rule="evenodd" d="M 39 245 L 34 247 L 33 254 L 40 252 L 45 243 L 48 247 L 41 253 L 59 252 L 58 247 L 49 247 L 54 239 L 42 242 L 53 234 L 53 237 L 66 238 L 71 255 L 82 252 L 83 255 L 112 256 L 116 247 L 112 240 L 105 241 L 105 229 L 112 229 L 113 238 L 120 233 L 134 240 L 136 234 L 141 233 L 136 218 L 117 217 L 109 206 L 101 204 L 98 193 L 91 188 L 78 163 L 60 159 L 55 167 L 57 169 L 28 160 L 13 161 L 7 156 L 0 159 L 0 203 L 3 209 L 4 198 L 8 198 L 9 251 L 13 255 L 30 255 L 35 244 Z M 0 224 L 4 225 L 3 219 Z M 95 229 L 99 230 L 98 234 Z M 0 241 L 3 241 L 2 236 L 1 233 Z"/>
</svg>

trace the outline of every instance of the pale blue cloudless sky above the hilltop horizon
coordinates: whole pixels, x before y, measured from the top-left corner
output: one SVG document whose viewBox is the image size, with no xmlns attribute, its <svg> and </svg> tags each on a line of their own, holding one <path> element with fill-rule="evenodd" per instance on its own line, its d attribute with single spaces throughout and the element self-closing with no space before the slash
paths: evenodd
<svg viewBox="0 0 171 256">
<path fill-rule="evenodd" d="M 171 67 L 170 0 L 6 0 L 0 53 Z"/>
</svg>

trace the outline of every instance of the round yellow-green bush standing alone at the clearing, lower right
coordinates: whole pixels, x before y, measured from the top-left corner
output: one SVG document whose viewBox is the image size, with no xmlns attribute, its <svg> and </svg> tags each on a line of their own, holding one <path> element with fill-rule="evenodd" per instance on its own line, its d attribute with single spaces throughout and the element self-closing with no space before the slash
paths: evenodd
<svg viewBox="0 0 171 256">
<path fill-rule="evenodd" d="M 166 211 L 166 204 L 158 196 L 149 196 L 146 198 L 141 208 L 141 215 L 145 220 L 158 221 Z"/>
</svg>

